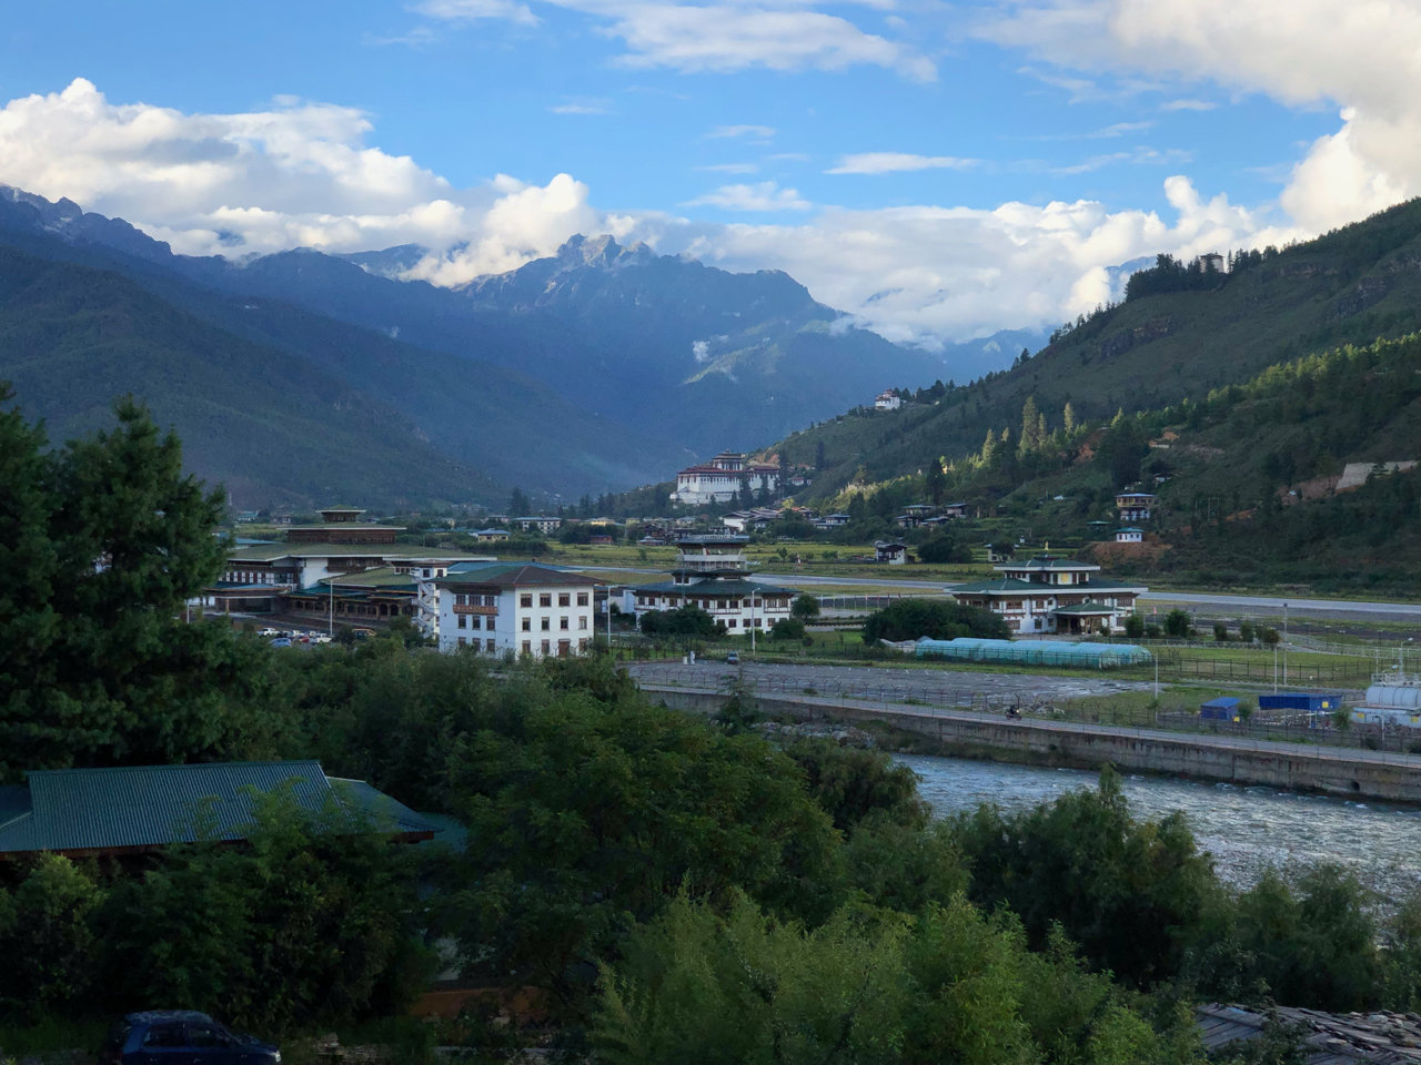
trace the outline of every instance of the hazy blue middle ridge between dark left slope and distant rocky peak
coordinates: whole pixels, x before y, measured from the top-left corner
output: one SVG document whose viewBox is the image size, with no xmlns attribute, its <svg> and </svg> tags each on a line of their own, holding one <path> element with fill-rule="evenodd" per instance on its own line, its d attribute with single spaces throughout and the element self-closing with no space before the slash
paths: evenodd
<svg viewBox="0 0 1421 1065">
<path fill-rule="evenodd" d="M 53 261 L 122 273 L 220 329 L 287 352 L 307 369 L 318 366 L 367 399 L 404 415 L 433 452 L 477 467 L 495 481 L 574 496 L 655 480 L 691 459 L 664 442 L 620 426 L 614 430 L 605 417 L 517 369 L 421 349 L 277 297 L 234 295 L 223 287 L 199 284 L 178 264 L 196 263 L 190 273 L 207 280 L 220 278 L 227 267 L 220 260 L 166 254 L 166 246 L 126 223 L 80 214 L 72 206 L 45 206 L 41 210 L 27 200 L 0 197 L 0 243 Z M 105 240 L 95 241 L 95 233 Z M 365 277 L 355 267 L 347 268 Z M 293 477 L 303 476 L 293 467 Z M 387 488 L 405 490 L 398 483 L 382 491 Z M 415 491 L 411 498 L 423 496 Z"/>
</svg>

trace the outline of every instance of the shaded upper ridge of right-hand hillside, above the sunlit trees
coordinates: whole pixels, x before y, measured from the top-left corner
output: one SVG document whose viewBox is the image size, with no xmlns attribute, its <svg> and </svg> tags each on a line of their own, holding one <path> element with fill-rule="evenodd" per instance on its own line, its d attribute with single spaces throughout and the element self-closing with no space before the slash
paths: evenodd
<svg viewBox="0 0 1421 1065">
<path fill-rule="evenodd" d="M 897 412 L 855 409 L 776 449 L 816 466 L 811 496 L 855 477 L 878 481 L 929 456 L 979 450 L 988 430 L 1015 435 L 1027 398 L 1047 425 L 1117 409 L 1160 409 L 1239 383 L 1265 368 L 1341 344 L 1421 328 L 1421 200 L 1283 250 L 1239 256 L 1222 273 L 1162 261 L 1135 274 L 1130 297 L 1063 327 L 1006 372 Z M 860 473 L 863 471 L 863 474 Z"/>
</svg>

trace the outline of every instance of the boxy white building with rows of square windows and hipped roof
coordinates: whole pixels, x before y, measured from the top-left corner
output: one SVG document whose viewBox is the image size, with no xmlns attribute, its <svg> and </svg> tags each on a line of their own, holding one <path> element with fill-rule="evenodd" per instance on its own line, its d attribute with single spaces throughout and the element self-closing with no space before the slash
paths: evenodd
<svg viewBox="0 0 1421 1065">
<path fill-rule="evenodd" d="M 568 657 L 591 648 L 598 581 L 533 562 L 460 562 L 419 581 L 421 629 L 439 650 Z"/>
</svg>

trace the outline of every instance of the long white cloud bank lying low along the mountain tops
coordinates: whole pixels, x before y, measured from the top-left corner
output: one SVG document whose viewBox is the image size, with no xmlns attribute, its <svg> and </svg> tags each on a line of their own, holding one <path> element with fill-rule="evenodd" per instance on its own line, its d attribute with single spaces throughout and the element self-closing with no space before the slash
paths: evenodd
<svg viewBox="0 0 1421 1065">
<path fill-rule="evenodd" d="M 412 275 L 441 285 L 549 256 L 574 233 L 611 233 L 732 270 L 787 270 L 863 324 L 928 345 L 1074 317 L 1110 298 L 1108 267 L 1138 256 L 1297 236 L 1265 227 L 1225 196 L 1204 200 L 1184 178 L 1165 182 L 1172 223 L 1094 202 L 813 212 L 774 182 L 729 185 L 696 204 L 800 212 L 799 224 L 611 214 L 568 175 L 546 185 L 500 175 L 453 187 L 409 158 L 369 146 L 369 133 L 368 118 L 351 108 L 286 101 L 250 114 L 188 115 L 114 105 L 80 80 L 0 111 L 0 182 L 125 217 L 192 254 L 419 243 L 433 251 Z M 1346 169 L 1354 156 L 1344 141 L 1334 143 L 1319 158 Z"/>
</svg>

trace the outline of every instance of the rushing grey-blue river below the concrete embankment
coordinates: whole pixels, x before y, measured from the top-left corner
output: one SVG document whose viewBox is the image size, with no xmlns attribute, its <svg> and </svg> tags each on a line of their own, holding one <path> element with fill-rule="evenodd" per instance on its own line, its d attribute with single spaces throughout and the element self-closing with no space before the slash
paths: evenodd
<svg viewBox="0 0 1421 1065">
<path fill-rule="evenodd" d="M 938 815 L 996 802 L 1020 809 L 1076 788 L 1096 787 L 1094 772 L 1034 765 L 897 755 L 919 777 L 919 791 Z M 1205 784 L 1167 777 L 1125 777 L 1137 818 L 1182 809 L 1199 849 L 1214 855 L 1219 876 L 1248 886 L 1268 866 L 1295 870 L 1337 862 L 1363 883 L 1397 899 L 1421 883 L 1421 809 L 1384 802 L 1300 795 L 1277 788 Z"/>
</svg>

